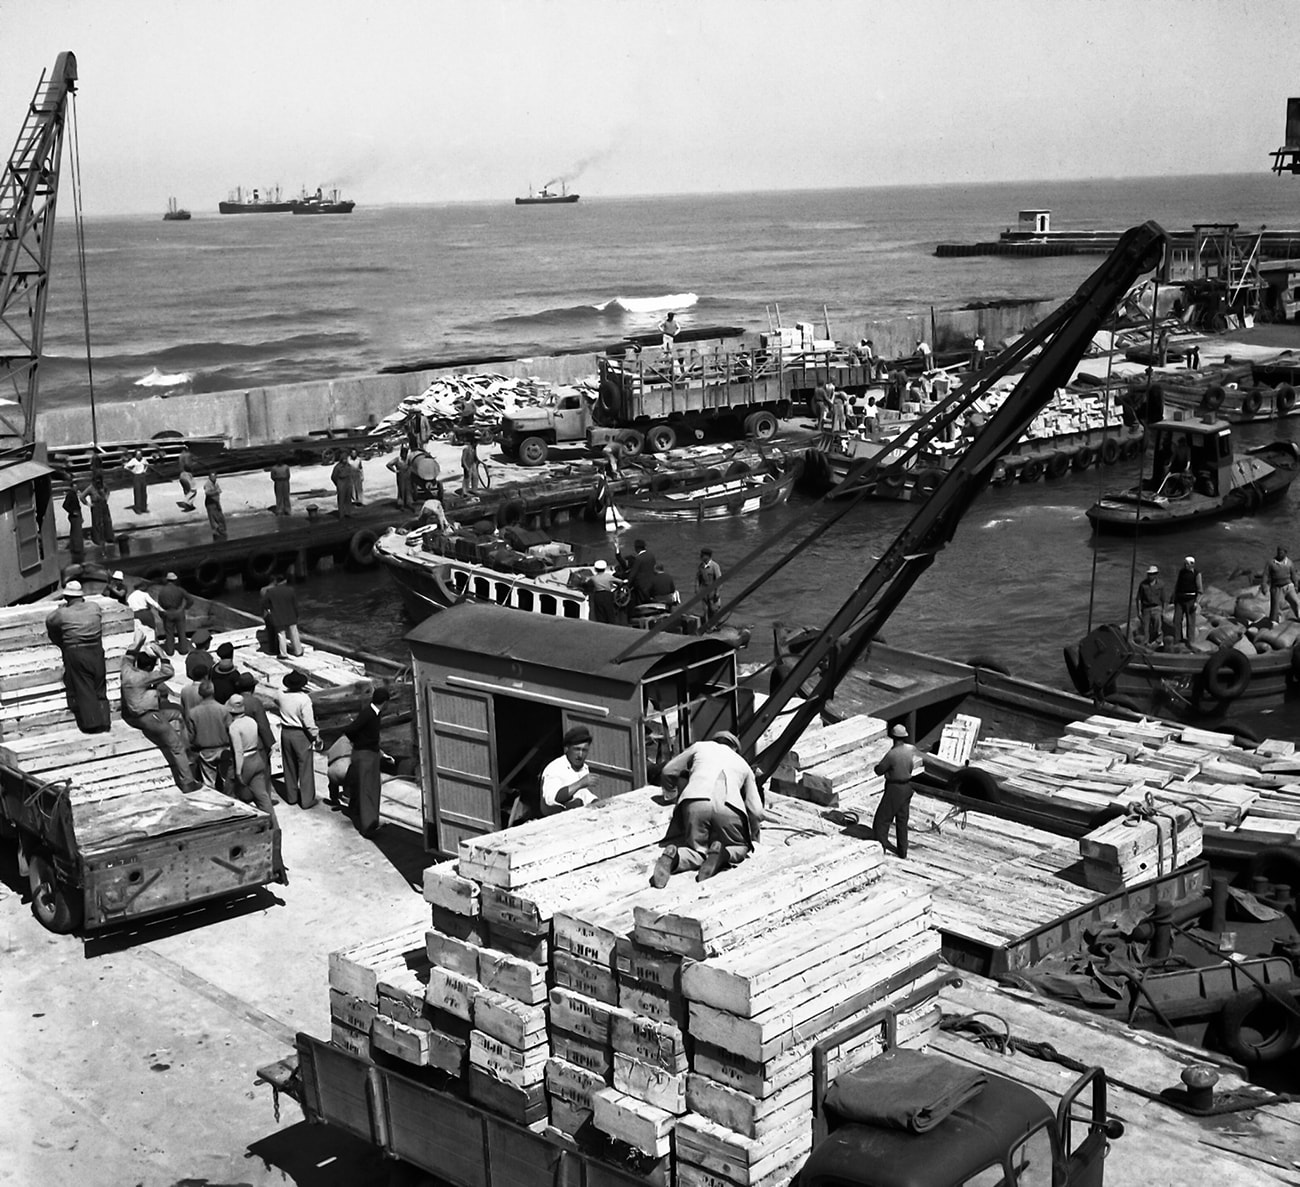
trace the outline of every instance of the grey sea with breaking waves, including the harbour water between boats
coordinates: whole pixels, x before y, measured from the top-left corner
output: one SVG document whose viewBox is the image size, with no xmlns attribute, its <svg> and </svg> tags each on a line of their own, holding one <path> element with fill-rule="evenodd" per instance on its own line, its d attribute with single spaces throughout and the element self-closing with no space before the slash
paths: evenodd
<svg viewBox="0 0 1300 1187">
<path fill-rule="evenodd" d="M 66 207 L 66 203 L 65 203 Z M 499 202 L 367 207 L 350 216 L 157 215 L 84 222 L 86 303 L 66 208 L 42 364 L 46 406 L 221 391 L 433 360 L 515 358 L 612 343 L 673 311 L 684 328 L 767 330 L 810 321 L 841 341 L 867 321 L 998 299 L 1063 299 L 1100 257 L 937 259 L 940 242 L 996 238 L 1022 208 L 1054 229 L 1122 229 L 1156 220 L 1300 226 L 1287 178 L 1206 176 L 1070 182 L 785 190 L 651 198 L 585 191 L 560 207 Z M 90 328 L 87 367 L 86 325 Z M 490 371 L 490 364 L 484 365 Z M 1296 436 L 1295 421 L 1249 426 L 1242 445 Z M 489 458 L 490 462 L 490 458 Z M 1135 567 L 1166 581 L 1195 555 L 1208 584 L 1260 571 L 1300 538 L 1296 499 L 1136 542 L 1095 538 L 1084 508 L 1135 469 L 1098 468 L 1060 482 L 992 489 L 967 514 L 881 632 L 890 644 L 956 659 L 993 658 L 1015 675 L 1065 686 L 1062 646 L 1131 605 Z M 369 488 L 368 488 L 369 490 Z M 746 658 L 771 657 L 775 624 L 826 621 L 914 514 L 867 503 L 822 536 L 734 612 L 753 629 Z M 698 549 L 724 571 L 772 556 L 775 533 L 811 528 L 828 508 L 786 507 L 644 537 L 689 588 Z M 573 525 L 599 543 L 599 529 Z M 610 542 L 612 545 L 612 541 Z M 1234 576 L 1238 575 L 1238 576 Z M 733 588 L 741 575 L 732 573 Z M 235 601 L 240 595 L 234 595 Z M 325 572 L 302 590 L 309 625 L 355 646 L 406 654 L 410 629 L 382 572 Z M 1262 723 L 1296 737 L 1296 715 Z"/>
</svg>

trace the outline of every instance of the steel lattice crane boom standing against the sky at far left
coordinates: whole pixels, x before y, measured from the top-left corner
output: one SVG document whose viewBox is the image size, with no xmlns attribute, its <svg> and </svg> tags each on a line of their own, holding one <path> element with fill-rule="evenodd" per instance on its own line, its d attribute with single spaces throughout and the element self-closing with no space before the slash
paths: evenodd
<svg viewBox="0 0 1300 1187">
<path fill-rule="evenodd" d="M 53 73 L 42 74 L 0 178 L 0 443 L 5 449 L 35 439 L 58 169 L 75 82 L 77 59 L 65 51 Z"/>
</svg>

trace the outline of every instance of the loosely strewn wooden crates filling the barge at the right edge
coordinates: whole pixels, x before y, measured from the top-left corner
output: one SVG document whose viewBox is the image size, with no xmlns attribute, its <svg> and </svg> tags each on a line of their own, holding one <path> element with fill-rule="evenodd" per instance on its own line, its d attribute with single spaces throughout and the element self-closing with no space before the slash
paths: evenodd
<svg viewBox="0 0 1300 1187">
<path fill-rule="evenodd" d="M 1049 744 L 984 738 L 970 762 L 1009 789 L 1060 803 L 1183 807 L 1208 833 L 1300 839 L 1300 755 L 1284 740 L 1245 748 L 1231 733 L 1095 714 Z M 927 764 L 944 771 L 928 755 Z"/>
</svg>

